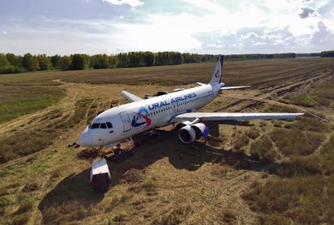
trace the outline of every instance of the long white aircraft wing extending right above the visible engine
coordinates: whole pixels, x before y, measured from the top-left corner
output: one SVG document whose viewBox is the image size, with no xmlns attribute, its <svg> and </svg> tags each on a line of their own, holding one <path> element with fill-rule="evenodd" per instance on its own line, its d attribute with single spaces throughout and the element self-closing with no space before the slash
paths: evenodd
<svg viewBox="0 0 334 225">
<path fill-rule="evenodd" d="M 304 113 L 182 113 L 171 122 L 200 119 L 201 121 L 248 120 L 248 119 L 294 119 Z"/>
</svg>

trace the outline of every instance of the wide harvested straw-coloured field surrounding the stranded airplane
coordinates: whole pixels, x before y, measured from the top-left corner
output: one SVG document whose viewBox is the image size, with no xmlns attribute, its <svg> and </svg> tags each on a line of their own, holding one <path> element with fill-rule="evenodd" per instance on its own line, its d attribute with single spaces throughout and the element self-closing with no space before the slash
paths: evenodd
<svg viewBox="0 0 334 225">
<path fill-rule="evenodd" d="M 214 64 L 0 76 L 0 107 L 8 106 L 0 117 L 0 223 L 332 224 L 333 65 L 331 58 L 225 63 L 224 83 L 253 87 L 226 90 L 201 111 L 312 114 L 209 124 L 218 137 L 189 145 L 173 126 L 161 128 L 134 148 L 125 142 L 125 157 L 111 157 L 112 185 L 100 194 L 89 186 L 100 153 L 67 144 L 99 111 L 125 103 L 121 90 L 193 87 L 209 80 Z"/>
</svg>

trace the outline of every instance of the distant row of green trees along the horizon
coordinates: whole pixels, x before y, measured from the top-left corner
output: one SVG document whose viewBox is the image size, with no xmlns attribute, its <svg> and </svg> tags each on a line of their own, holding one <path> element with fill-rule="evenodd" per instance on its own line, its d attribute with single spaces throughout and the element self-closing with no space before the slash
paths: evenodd
<svg viewBox="0 0 334 225">
<path fill-rule="evenodd" d="M 227 55 L 225 60 L 255 60 L 271 58 L 295 58 L 296 53 L 276 54 L 238 54 Z M 13 53 L 0 53 L 0 74 L 14 74 L 33 72 L 38 70 L 58 69 L 107 69 L 123 67 L 152 67 L 159 65 L 179 65 L 183 63 L 214 62 L 218 55 L 180 53 L 177 51 L 130 51 L 114 55 L 72 54 L 70 56 L 46 56 L 45 54 L 33 56 L 26 53 L 17 56 Z"/>
</svg>

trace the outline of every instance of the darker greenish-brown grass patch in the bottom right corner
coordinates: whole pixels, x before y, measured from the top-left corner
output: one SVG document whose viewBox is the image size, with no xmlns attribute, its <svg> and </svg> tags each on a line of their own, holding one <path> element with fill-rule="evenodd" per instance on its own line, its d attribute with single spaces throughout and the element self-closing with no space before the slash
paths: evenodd
<svg viewBox="0 0 334 225">
<path fill-rule="evenodd" d="M 302 224 L 334 223 L 334 176 L 269 178 L 243 197 L 271 223 L 287 219 Z"/>
</svg>

